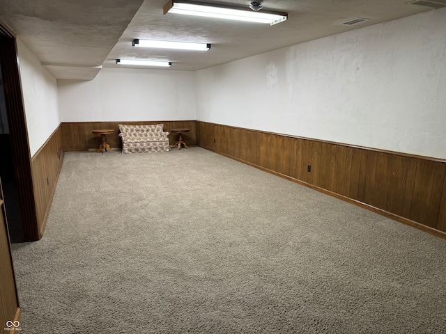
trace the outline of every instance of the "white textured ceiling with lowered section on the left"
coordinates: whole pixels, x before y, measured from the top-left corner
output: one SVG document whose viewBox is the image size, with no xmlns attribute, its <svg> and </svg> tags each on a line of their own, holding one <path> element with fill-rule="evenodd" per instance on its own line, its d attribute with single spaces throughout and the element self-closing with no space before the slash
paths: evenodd
<svg viewBox="0 0 446 334">
<path fill-rule="evenodd" d="M 247 7 L 252 0 L 223 1 Z M 167 0 L 0 0 L 0 20 L 56 79 L 91 80 L 101 66 L 117 67 L 116 58 L 167 60 L 172 62 L 169 70 L 199 70 L 433 9 L 407 1 L 263 0 L 263 8 L 289 14 L 286 22 L 269 26 L 164 15 Z M 369 20 L 341 24 L 356 17 Z M 212 47 L 206 52 L 154 51 L 132 47 L 134 38 Z"/>
</svg>

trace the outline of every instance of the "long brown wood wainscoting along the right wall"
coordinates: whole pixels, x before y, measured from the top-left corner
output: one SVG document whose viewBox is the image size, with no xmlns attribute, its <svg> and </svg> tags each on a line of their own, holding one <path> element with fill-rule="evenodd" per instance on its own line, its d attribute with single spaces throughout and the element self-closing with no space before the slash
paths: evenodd
<svg viewBox="0 0 446 334">
<path fill-rule="evenodd" d="M 197 145 L 446 239 L 446 161 L 197 121 Z"/>
</svg>

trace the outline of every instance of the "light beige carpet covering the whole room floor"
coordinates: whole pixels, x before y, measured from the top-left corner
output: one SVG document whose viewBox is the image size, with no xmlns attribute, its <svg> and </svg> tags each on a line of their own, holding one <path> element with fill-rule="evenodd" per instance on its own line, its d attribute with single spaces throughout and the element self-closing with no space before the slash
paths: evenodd
<svg viewBox="0 0 446 334">
<path fill-rule="evenodd" d="M 68 152 L 22 333 L 446 333 L 446 241 L 201 148 Z"/>
</svg>

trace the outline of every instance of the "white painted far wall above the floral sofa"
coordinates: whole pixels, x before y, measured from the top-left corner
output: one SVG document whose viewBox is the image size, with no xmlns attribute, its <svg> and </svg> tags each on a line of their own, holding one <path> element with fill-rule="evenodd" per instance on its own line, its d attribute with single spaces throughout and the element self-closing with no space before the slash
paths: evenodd
<svg viewBox="0 0 446 334">
<path fill-rule="evenodd" d="M 91 81 L 59 80 L 62 122 L 194 120 L 194 72 L 103 68 Z"/>
</svg>

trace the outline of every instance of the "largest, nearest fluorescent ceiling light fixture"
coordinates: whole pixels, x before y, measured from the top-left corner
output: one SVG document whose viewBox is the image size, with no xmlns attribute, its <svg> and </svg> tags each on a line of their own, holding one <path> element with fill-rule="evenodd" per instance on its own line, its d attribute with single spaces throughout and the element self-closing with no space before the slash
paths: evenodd
<svg viewBox="0 0 446 334">
<path fill-rule="evenodd" d="M 235 19 L 245 22 L 268 23 L 271 26 L 273 24 L 284 22 L 288 18 L 287 13 L 273 12 L 271 10 L 254 11 L 249 8 L 189 0 L 169 0 L 163 10 L 164 14 L 169 12 L 214 17 L 217 19 Z"/>
</svg>

